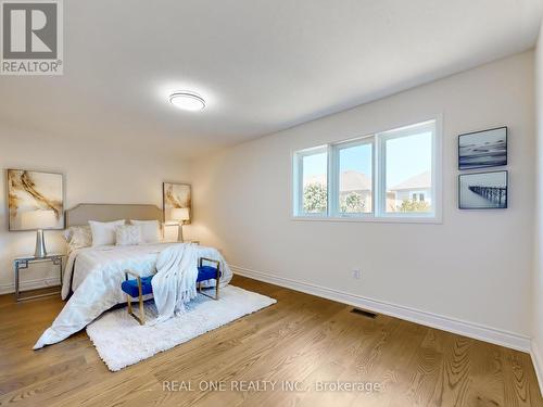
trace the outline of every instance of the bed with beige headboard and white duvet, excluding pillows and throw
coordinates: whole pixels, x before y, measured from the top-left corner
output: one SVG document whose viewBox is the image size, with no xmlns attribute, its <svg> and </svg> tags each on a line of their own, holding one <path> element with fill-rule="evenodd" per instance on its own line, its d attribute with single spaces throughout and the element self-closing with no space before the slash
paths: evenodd
<svg viewBox="0 0 543 407">
<path fill-rule="evenodd" d="M 81 204 L 66 212 L 66 227 L 86 225 L 89 220 L 117 219 L 156 219 L 162 222 L 162 211 L 154 205 Z M 63 341 L 84 329 L 105 310 L 126 303 L 126 295 L 121 290 L 124 271 L 130 269 L 141 277 L 153 275 L 160 252 L 173 244 L 178 243 L 104 245 L 68 253 L 62 285 L 62 298 L 67 302 L 34 348 Z M 220 253 L 206 246 L 198 246 L 197 251 L 199 257 L 209 257 L 222 263 L 220 287 L 228 284 L 232 274 Z M 202 287 L 214 284 L 214 280 L 209 280 L 203 282 Z"/>
</svg>

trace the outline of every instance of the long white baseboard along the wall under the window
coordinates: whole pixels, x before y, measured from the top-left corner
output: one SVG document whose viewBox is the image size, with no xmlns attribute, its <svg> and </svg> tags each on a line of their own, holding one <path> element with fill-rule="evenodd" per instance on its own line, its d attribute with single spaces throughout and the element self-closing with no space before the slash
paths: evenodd
<svg viewBox="0 0 543 407">
<path fill-rule="evenodd" d="M 392 304 L 384 301 L 364 297 L 356 294 L 298 281 L 285 277 L 273 276 L 267 272 L 255 271 L 244 267 L 231 266 L 230 268 L 237 275 L 248 277 L 254 280 L 269 282 L 272 284 L 285 287 L 307 294 L 321 296 L 324 298 L 349 304 L 355 307 L 365 308 L 378 314 L 384 314 L 391 317 L 405 319 L 407 321 L 420 323 L 427 327 L 441 329 L 457 333 L 464 336 L 490 342 L 496 345 L 510 347 L 516 351 L 530 353 L 532 348 L 531 339 L 514 332 L 507 332 L 500 329 L 487 327 L 483 325 L 450 318 L 403 305 Z"/>
</svg>

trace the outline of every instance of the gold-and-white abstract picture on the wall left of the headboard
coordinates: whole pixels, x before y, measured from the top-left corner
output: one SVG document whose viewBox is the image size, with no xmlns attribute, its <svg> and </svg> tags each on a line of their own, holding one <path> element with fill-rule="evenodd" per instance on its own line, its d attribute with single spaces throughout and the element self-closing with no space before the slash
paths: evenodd
<svg viewBox="0 0 543 407">
<path fill-rule="evenodd" d="M 64 229 L 64 177 L 62 174 L 8 169 L 9 230 L 36 230 L 35 215 L 50 215 L 43 229 Z M 31 221 L 29 219 L 33 218 Z"/>
</svg>

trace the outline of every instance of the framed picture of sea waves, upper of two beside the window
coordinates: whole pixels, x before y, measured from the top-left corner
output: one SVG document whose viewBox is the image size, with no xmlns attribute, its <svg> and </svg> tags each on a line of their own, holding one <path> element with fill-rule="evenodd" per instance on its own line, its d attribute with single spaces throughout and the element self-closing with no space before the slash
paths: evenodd
<svg viewBox="0 0 543 407">
<path fill-rule="evenodd" d="M 458 136 L 458 169 L 507 165 L 507 127 Z"/>
</svg>

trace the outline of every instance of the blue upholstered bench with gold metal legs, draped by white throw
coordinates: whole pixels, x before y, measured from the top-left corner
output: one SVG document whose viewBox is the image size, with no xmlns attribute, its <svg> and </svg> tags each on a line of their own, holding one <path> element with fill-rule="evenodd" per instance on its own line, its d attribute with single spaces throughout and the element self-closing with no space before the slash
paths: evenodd
<svg viewBox="0 0 543 407">
<path fill-rule="evenodd" d="M 204 265 L 204 262 L 211 263 L 214 266 Z M 132 279 L 128 278 L 128 275 L 135 277 Z M 198 260 L 198 291 L 205 296 L 209 296 L 213 300 L 218 300 L 218 284 L 220 282 L 220 262 L 214 260 L 212 258 L 200 257 Z M 149 277 L 140 277 L 130 270 L 125 270 L 125 281 L 121 284 L 121 289 L 126 293 L 127 302 L 128 302 L 128 314 L 130 314 L 136 320 L 144 325 L 146 323 L 146 314 L 143 313 L 143 295 L 153 293 L 153 284 L 151 280 L 153 276 Z M 202 281 L 206 280 L 216 280 L 215 281 L 215 296 L 209 295 L 202 291 Z M 139 301 L 139 316 L 134 314 L 131 298 L 138 297 Z"/>
</svg>

